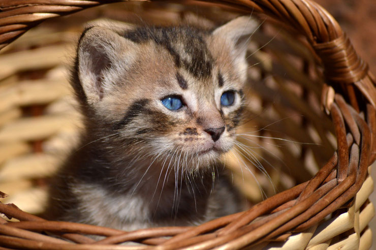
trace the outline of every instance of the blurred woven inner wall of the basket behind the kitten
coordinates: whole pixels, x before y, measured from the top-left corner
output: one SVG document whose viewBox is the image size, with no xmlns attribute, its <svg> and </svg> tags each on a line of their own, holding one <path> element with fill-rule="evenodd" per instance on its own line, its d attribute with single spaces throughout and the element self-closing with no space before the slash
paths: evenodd
<svg viewBox="0 0 376 250">
<path fill-rule="evenodd" d="M 68 77 L 87 22 L 213 27 L 239 15 L 208 4 L 112 4 L 48 20 L 5 48 L 0 190 L 9 198 L 3 202 L 40 213 L 48 178 L 77 142 L 82 126 Z M 320 109 L 322 73 L 304 38 L 254 17 L 261 25 L 248 46 L 245 117 L 239 144 L 223 157 L 250 205 L 309 180 L 336 147 L 332 123 Z"/>
</svg>

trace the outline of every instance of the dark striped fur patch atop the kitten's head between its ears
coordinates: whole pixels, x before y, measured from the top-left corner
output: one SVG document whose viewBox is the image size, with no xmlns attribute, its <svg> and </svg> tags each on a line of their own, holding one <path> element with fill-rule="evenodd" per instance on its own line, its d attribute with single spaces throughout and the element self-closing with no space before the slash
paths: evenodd
<svg viewBox="0 0 376 250">
<path fill-rule="evenodd" d="M 152 41 L 170 54 L 177 69 L 204 80 L 210 78 L 213 68 L 213 58 L 205 42 L 207 35 L 192 27 L 141 27 L 126 32 L 124 38 L 138 44 Z"/>
</svg>

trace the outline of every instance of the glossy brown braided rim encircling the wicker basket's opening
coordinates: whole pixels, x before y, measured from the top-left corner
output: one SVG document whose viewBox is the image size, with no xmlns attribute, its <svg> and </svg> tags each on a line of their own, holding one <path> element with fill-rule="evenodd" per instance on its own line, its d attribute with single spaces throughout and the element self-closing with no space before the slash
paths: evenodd
<svg viewBox="0 0 376 250">
<path fill-rule="evenodd" d="M 38 0 L 5 0 L 0 3 L 0 49 L 44 19 L 110 2 L 119 1 L 54 0 L 46 3 Z M 7 222 L 0 218 L 1 245 L 25 249 L 176 249 L 193 246 L 197 249 L 238 249 L 253 245 L 257 249 L 268 244 L 273 246 L 271 240 L 287 240 L 284 245 L 286 249 L 298 244 L 301 246 L 299 248 L 307 249 L 337 249 L 344 244 L 359 249 L 370 246 L 367 224 L 373 215 L 373 205 L 367 197 L 373 183 L 367 176 L 367 170 L 376 160 L 376 87 L 366 63 L 356 54 L 337 22 L 314 2 L 217 2 L 230 5 L 234 10 L 255 12 L 282 22 L 293 33 L 304 36 L 314 50 L 316 60 L 324 69 L 325 83 L 310 88 L 321 94 L 321 105 L 330 114 L 337 143 L 337 150 L 329 157 L 326 157 L 327 152 L 314 153 L 330 158 L 320 166 L 317 174 L 309 181 L 276 194 L 247 211 L 198 227 L 123 232 L 90 225 L 49 222 L 12 204 L 0 203 L 1 213 L 20 221 Z M 186 1 L 186 4 L 192 3 Z M 6 75 L 4 71 L 3 76 Z M 288 93 L 284 92 L 284 95 Z M 332 218 L 324 220 L 329 214 L 332 214 Z M 60 238 L 37 232 L 52 232 Z M 105 238 L 95 241 L 83 234 L 102 235 Z M 115 245 L 124 241 L 141 244 Z"/>
</svg>

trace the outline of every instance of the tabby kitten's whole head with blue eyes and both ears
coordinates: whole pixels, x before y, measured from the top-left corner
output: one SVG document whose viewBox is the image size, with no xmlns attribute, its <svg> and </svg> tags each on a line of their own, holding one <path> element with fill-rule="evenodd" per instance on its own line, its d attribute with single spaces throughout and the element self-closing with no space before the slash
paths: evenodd
<svg viewBox="0 0 376 250">
<path fill-rule="evenodd" d="M 228 151 L 243 109 L 247 37 L 239 17 L 214 30 L 92 26 L 82 34 L 76 90 L 92 133 L 120 158 L 145 154 L 199 166 Z M 94 138 L 99 139 L 99 138 Z"/>
</svg>

